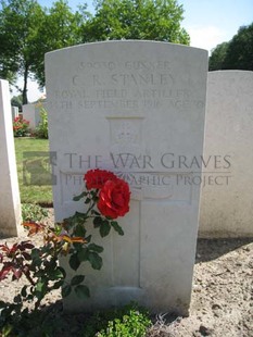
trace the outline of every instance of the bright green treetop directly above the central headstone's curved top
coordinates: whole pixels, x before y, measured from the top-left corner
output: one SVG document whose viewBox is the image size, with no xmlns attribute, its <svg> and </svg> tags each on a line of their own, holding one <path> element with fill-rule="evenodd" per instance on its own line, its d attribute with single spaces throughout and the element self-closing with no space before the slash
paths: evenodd
<svg viewBox="0 0 253 337">
<path fill-rule="evenodd" d="M 97 0 L 96 14 L 84 25 L 84 42 L 141 39 L 189 45 L 176 0 Z"/>
</svg>

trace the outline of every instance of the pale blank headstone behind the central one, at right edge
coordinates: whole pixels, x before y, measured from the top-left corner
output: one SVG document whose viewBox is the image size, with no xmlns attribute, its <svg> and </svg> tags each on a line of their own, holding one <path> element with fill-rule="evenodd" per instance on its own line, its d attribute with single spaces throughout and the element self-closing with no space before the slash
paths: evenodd
<svg viewBox="0 0 253 337">
<path fill-rule="evenodd" d="M 207 76 L 201 237 L 253 236 L 253 72 Z"/>
</svg>

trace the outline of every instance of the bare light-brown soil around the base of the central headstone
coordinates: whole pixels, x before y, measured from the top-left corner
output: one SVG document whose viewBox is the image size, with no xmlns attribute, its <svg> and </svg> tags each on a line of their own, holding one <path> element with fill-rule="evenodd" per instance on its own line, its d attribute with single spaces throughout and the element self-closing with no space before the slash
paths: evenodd
<svg viewBox="0 0 253 337">
<path fill-rule="evenodd" d="M 47 223 L 53 223 L 50 209 Z M 0 239 L 13 244 L 24 238 Z M 33 238 L 36 245 L 41 237 Z M 11 301 L 23 284 L 4 279 L 0 283 L 0 299 Z M 60 291 L 45 299 L 45 305 L 54 307 L 62 315 Z M 78 336 L 85 315 L 64 315 L 69 324 L 67 335 Z M 194 283 L 189 317 L 175 317 L 161 313 L 147 337 L 253 337 L 253 238 L 252 239 L 200 239 L 194 266 Z M 135 336 L 132 336 L 135 337 Z"/>
</svg>

